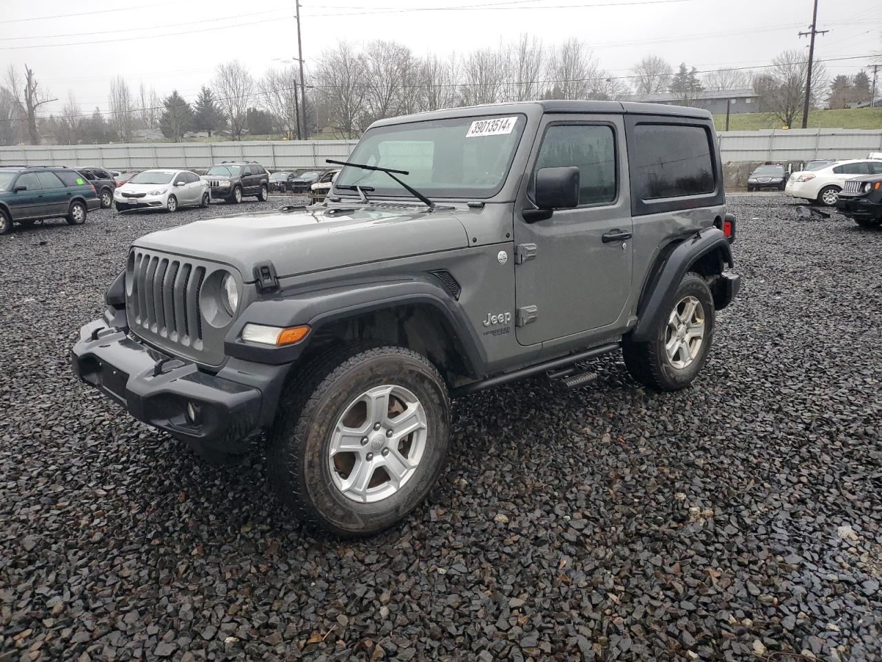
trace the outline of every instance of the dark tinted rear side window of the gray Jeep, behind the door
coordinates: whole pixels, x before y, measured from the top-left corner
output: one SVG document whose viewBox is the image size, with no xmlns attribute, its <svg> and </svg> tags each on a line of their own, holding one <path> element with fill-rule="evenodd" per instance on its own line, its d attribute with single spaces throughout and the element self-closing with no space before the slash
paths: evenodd
<svg viewBox="0 0 882 662">
<path fill-rule="evenodd" d="M 638 124 L 634 137 L 631 177 L 642 199 L 714 192 L 713 151 L 704 127 Z"/>
</svg>

